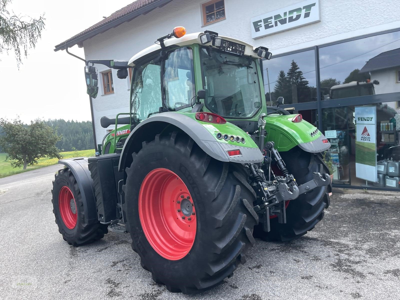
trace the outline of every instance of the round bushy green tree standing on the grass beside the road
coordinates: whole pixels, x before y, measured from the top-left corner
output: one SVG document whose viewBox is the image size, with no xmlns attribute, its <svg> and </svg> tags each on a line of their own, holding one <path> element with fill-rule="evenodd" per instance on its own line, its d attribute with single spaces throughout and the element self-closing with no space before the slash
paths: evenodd
<svg viewBox="0 0 400 300">
<path fill-rule="evenodd" d="M 0 119 L 0 126 L 4 135 L 0 136 L 0 146 L 7 152 L 6 159 L 14 160 L 11 165 L 14 168 L 38 163 L 38 158 L 61 158 L 56 142 L 60 137 L 53 133 L 50 126 L 40 119 L 23 124 L 17 118 L 13 121 Z"/>
</svg>

